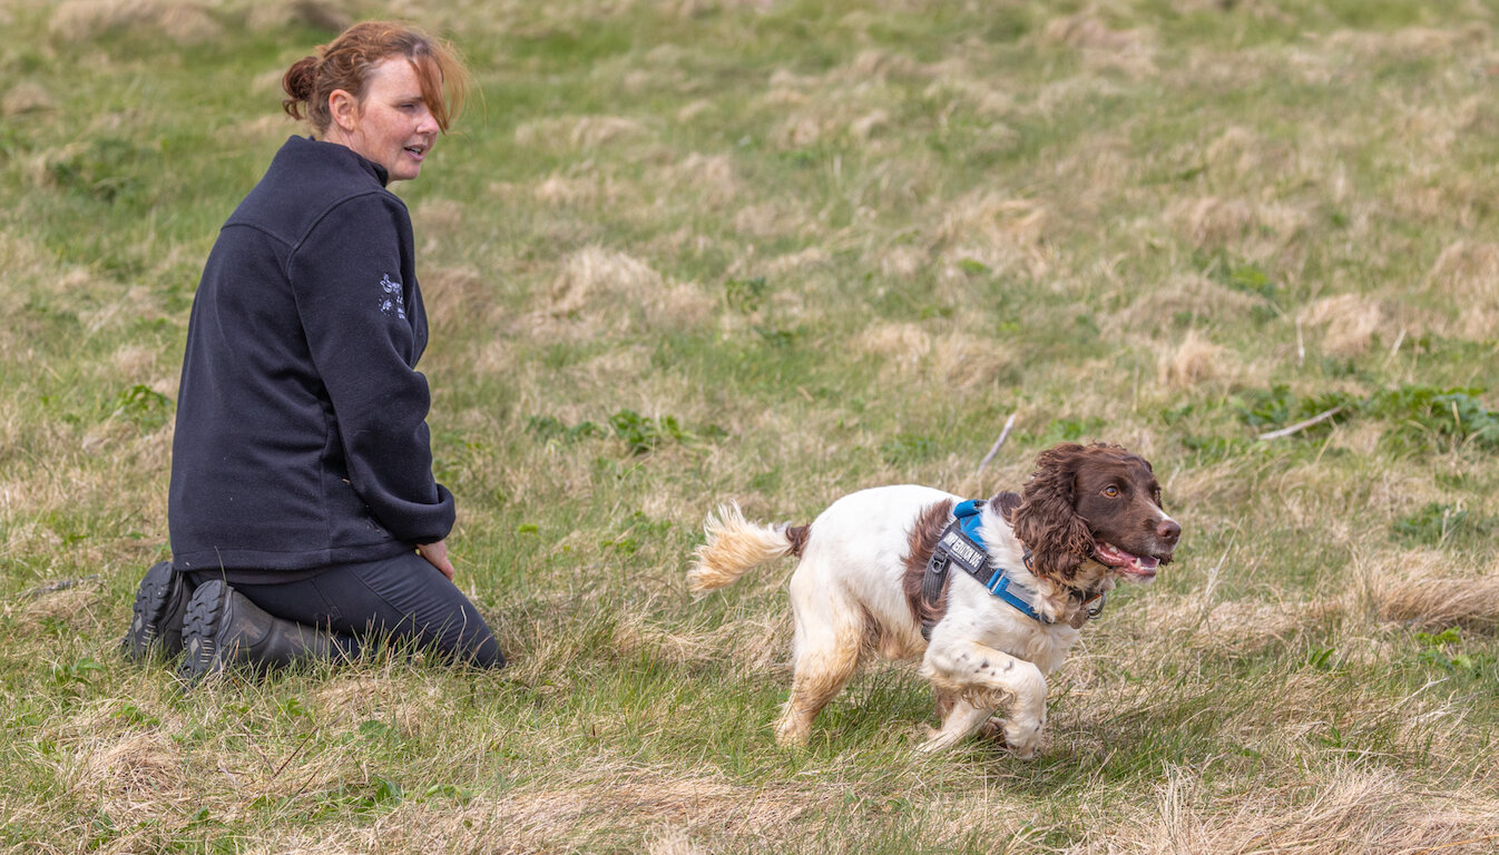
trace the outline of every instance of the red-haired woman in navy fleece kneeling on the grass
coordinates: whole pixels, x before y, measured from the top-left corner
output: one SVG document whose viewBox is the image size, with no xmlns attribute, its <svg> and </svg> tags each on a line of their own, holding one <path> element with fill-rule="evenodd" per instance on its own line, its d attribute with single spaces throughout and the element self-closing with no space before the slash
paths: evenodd
<svg viewBox="0 0 1499 855">
<path fill-rule="evenodd" d="M 357 656 L 373 635 L 504 656 L 453 584 L 453 496 L 432 476 L 409 181 L 462 106 L 442 42 L 363 22 L 286 72 L 292 136 L 219 232 L 187 325 L 172 562 L 126 650 L 229 665 Z"/>
</svg>

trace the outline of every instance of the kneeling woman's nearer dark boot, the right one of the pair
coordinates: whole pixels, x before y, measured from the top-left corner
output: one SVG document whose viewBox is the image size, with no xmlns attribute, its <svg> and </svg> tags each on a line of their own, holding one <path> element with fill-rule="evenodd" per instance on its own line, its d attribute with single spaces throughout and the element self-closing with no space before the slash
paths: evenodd
<svg viewBox="0 0 1499 855">
<path fill-rule="evenodd" d="M 333 633 L 267 614 L 219 579 L 193 591 L 183 623 L 183 647 L 187 654 L 178 671 L 192 681 L 225 668 L 264 672 L 340 654 Z"/>
</svg>

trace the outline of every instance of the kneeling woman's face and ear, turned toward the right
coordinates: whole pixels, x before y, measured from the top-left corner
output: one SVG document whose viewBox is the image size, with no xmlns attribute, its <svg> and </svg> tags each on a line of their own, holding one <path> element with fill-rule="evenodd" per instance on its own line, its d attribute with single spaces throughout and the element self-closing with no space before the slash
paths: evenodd
<svg viewBox="0 0 1499 855">
<path fill-rule="evenodd" d="M 337 103 L 331 106 L 334 127 L 342 135 L 330 133 L 330 142 L 342 142 L 379 163 L 391 181 L 421 175 L 421 162 L 438 141 L 438 120 L 421 97 L 421 81 L 409 60 L 399 55 L 381 60 L 366 79 L 364 103 L 349 103 L 352 109 L 343 115 Z"/>
</svg>

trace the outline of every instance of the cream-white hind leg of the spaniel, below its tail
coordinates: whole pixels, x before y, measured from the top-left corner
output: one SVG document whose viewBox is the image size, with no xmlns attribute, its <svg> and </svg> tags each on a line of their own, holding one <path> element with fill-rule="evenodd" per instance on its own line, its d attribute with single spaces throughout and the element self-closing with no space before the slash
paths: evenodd
<svg viewBox="0 0 1499 855">
<path fill-rule="evenodd" d="M 791 578 L 791 609 L 796 636 L 791 645 L 791 696 L 785 699 L 775 740 L 802 746 L 812 719 L 823 711 L 859 668 L 863 650 L 863 617 L 841 593 L 818 590 L 815 572 L 797 568 Z"/>
</svg>

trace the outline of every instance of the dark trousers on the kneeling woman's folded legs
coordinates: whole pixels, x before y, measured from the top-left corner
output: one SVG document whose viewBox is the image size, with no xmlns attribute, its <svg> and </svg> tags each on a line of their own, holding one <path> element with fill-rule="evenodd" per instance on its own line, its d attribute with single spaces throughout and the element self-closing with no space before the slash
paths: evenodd
<svg viewBox="0 0 1499 855">
<path fill-rule="evenodd" d="M 214 570 L 190 575 L 196 584 L 225 578 Z M 228 575 L 234 590 L 267 612 L 331 630 L 351 657 L 370 641 L 388 638 L 480 668 L 505 665 L 495 633 L 474 603 L 415 553 L 334 565 L 291 582 L 243 582 L 234 581 L 232 570 Z"/>
</svg>

